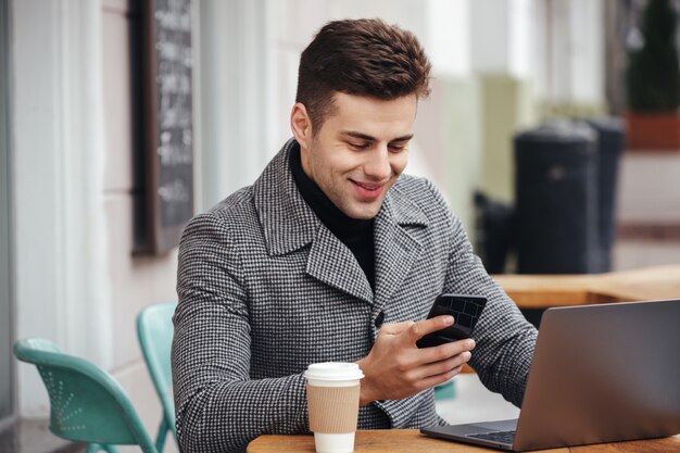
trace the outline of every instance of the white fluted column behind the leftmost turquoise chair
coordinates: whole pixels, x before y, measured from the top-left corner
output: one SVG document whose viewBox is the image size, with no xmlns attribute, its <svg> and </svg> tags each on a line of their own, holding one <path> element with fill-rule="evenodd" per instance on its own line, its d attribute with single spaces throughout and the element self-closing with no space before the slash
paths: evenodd
<svg viewBox="0 0 680 453">
<path fill-rule="evenodd" d="M 12 11 L 17 336 L 109 367 L 101 5 L 21 0 Z M 17 383 L 21 415 L 47 415 L 35 367 L 21 366 Z"/>
</svg>

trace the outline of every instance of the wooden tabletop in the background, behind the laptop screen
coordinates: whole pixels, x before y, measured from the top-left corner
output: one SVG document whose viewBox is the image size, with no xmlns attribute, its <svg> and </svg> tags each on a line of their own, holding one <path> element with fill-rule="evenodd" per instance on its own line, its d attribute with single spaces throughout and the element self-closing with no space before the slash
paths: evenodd
<svg viewBox="0 0 680 453">
<path fill-rule="evenodd" d="M 520 309 L 680 299 L 680 265 L 606 274 L 494 275 L 493 278 Z"/>
</svg>

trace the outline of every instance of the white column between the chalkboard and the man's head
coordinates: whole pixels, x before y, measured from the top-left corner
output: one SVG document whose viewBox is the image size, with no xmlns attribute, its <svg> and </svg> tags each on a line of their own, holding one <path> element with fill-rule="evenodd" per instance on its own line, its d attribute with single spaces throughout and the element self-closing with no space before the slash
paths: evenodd
<svg viewBox="0 0 680 453">
<path fill-rule="evenodd" d="M 252 184 L 276 151 L 268 17 L 264 0 L 200 2 L 201 210 Z"/>
</svg>

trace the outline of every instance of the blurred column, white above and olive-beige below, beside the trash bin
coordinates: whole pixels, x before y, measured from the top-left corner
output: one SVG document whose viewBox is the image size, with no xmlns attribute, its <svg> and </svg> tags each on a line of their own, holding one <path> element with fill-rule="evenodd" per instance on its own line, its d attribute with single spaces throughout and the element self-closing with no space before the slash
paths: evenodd
<svg viewBox="0 0 680 453">
<path fill-rule="evenodd" d="M 531 0 L 471 2 L 471 64 L 481 91 L 481 189 L 513 199 L 513 135 L 533 121 Z"/>
</svg>

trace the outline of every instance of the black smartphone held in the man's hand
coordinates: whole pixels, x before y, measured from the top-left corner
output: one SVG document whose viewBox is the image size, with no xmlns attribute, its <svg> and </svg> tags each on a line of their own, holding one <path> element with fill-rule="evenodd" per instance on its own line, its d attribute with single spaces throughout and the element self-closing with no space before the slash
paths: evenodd
<svg viewBox="0 0 680 453">
<path fill-rule="evenodd" d="M 418 348 L 438 347 L 450 341 L 469 338 L 475 330 L 477 319 L 481 315 L 487 298 L 467 294 L 440 294 L 435 300 L 427 318 L 440 315 L 451 315 L 454 318 L 452 326 L 426 335 L 418 341 Z"/>
</svg>

